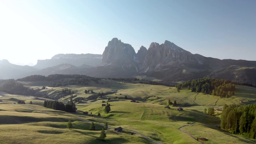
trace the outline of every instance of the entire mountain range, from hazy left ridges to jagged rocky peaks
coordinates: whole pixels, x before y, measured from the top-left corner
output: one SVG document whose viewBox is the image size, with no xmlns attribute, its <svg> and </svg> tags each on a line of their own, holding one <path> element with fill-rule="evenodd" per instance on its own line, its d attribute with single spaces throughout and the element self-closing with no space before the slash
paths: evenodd
<svg viewBox="0 0 256 144">
<path fill-rule="evenodd" d="M 136 53 L 130 44 L 113 38 L 100 54 L 57 54 L 35 66 L 18 66 L 0 60 L 0 79 L 40 74 L 84 74 L 101 78 L 146 76 L 172 83 L 198 78 L 223 78 L 256 83 L 256 61 L 220 60 L 192 54 L 174 43 L 152 42 Z"/>
</svg>

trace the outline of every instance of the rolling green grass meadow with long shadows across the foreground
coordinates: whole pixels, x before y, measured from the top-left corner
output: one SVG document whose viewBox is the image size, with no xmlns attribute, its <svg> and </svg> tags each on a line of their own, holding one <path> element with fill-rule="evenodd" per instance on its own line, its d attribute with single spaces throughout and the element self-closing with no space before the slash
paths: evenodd
<svg viewBox="0 0 256 144">
<path fill-rule="evenodd" d="M 118 82 L 102 80 L 99 84 L 90 82 L 88 86 L 65 86 L 40 90 L 46 86 L 46 82 L 22 82 L 22 84 L 37 89 L 37 96 L 20 96 L 0 92 L 0 143 L 2 144 L 38 144 L 38 143 L 152 143 L 137 134 L 131 135 L 130 130 L 147 136 L 151 140 L 167 144 L 198 144 L 188 134 L 179 130 L 180 127 L 196 122 L 193 126 L 183 128 L 195 138 L 204 137 L 209 141 L 205 144 L 218 143 L 256 143 L 255 140 L 230 134 L 218 128 L 220 125 L 220 112 L 214 116 L 205 114 L 204 109 L 212 106 L 214 109 L 222 108 L 224 104 L 252 104 L 256 102 L 256 88 L 248 86 L 236 86 L 235 95 L 230 98 L 220 98 L 202 93 L 194 93 L 190 90 L 177 90 L 175 87 L 157 86 L 148 84 L 134 84 L 133 82 Z M 62 89 L 68 88 L 74 91 L 73 100 L 77 112 L 75 114 L 44 108 L 44 100 L 54 99 L 67 102 L 70 96 L 63 96 Z M 93 90 L 95 93 L 85 94 L 84 90 Z M 98 93 L 107 93 L 102 98 L 94 99 Z M 121 94 L 121 95 L 120 95 Z M 47 95 L 49 99 L 44 98 Z M 124 100 L 124 96 L 133 98 L 139 103 Z M 116 98 L 117 97 L 117 98 Z M 111 106 L 110 113 L 104 112 L 102 100 L 111 98 L 108 102 Z M 165 109 L 168 100 L 176 106 Z M 17 103 L 24 100 L 26 106 Z M 239 101 L 243 101 L 240 103 Z M 248 101 L 246 101 L 248 100 Z M 32 101 L 32 105 L 29 102 Z M 105 100 L 107 101 L 107 100 Z M 182 107 L 184 111 L 177 111 Z M 82 112 L 94 115 L 85 116 Z M 44 113 L 46 114 L 44 114 Z M 97 116 L 98 113 L 101 116 Z M 96 131 L 90 131 L 90 123 L 82 122 L 77 118 L 94 122 Z M 68 120 L 72 121 L 74 128 L 66 129 Z M 106 130 L 106 140 L 99 140 L 100 130 L 104 124 L 116 128 L 121 126 L 124 132 L 117 133 L 114 130 Z"/>
</svg>

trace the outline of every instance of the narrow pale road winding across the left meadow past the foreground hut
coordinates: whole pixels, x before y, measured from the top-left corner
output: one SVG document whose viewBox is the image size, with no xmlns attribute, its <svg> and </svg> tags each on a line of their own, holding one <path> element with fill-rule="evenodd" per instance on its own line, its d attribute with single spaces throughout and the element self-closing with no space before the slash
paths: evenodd
<svg viewBox="0 0 256 144">
<path fill-rule="evenodd" d="M 28 107 L 28 106 L 26 106 L 26 104 L 24 104 L 23 105 L 24 107 L 26 107 L 26 108 L 29 108 L 29 109 L 31 109 L 31 110 L 35 110 L 35 111 L 38 111 L 38 112 L 41 112 L 41 113 L 43 113 L 43 114 L 48 114 L 48 113 L 46 113 L 46 112 L 43 112 L 43 111 L 40 111 L 40 110 L 36 110 L 36 109 L 34 109 L 34 108 L 30 108 L 30 107 Z M 75 114 L 74 114 L 75 115 Z M 78 119 L 78 120 L 81 120 L 81 121 L 83 121 L 83 122 L 88 122 L 88 123 L 91 123 L 91 121 L 88 121 L 88 120 L 84 120 L 84 119 L 82 119 L 82 118 L 77 118 L 77 117 L 74 117 L 74 116 L 68 116 L 68 117 L 70 117 L 70 118 L 76 118 L 76 119 Z M 99 124 L 99 125 L 101 125 L 101 126 L 105 126 L 104 124 L 101 124 L 101 123 L 96 123 L 96 124 Z M 109 129 L 114 129 L 113 127 L 108 127 Z M 128 130 L 128 129 L 126 129 L 126 130 Z M 142 134 L 140 134 L 140 133 L 138 133 L 138 132 L 134 132 L 134 131 L 132 131 L 132 130 L 128 130 L 129 132 L 132 132 L 132 133 L 134 133 L 134 134 L 138 134 L 138 135 L 140 135 L 140 136 L 142 136 L 143 138 L 145 138 L 146 140 L 148 140 L 148 141 L 150 141 L 150 142 L 153 142 L 153 143 L 155 143 L 155 144 L 163 144 L 163 143 L 160 143 L 160 142 L 156 142 L 156 141 L 154 141 L 154 140 L 150 140 L 148 137 L 146 137 L 146 136 L 144 136 L 144 135 L 142 135 Z"/>
</svg>

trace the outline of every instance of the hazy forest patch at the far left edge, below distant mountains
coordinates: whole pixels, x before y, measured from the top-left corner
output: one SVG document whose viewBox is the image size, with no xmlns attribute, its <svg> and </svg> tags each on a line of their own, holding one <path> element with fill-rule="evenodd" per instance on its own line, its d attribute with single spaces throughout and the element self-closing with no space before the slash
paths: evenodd
<svg viewBox="0 0 256 144">
<path fill-rule="evenodd" d="M 27 88 L 22 84 L 16 84 L 14 79 L 0 80 L 0 91 L 7 92 L 9 94 L 20 94 L 25 96 L 34 96 L 35 91 Z"/>
</svg>

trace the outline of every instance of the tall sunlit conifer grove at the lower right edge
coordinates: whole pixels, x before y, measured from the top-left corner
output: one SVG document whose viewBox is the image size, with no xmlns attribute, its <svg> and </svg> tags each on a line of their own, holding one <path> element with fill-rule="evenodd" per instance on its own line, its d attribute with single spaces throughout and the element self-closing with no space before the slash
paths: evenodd
<svg viewBox="0 0 256 144">
<path fill-rule="evenodd" d="M 221 116 L 221 128 L 232 134 L 247 134 L 256 138 L 256 104 L 246 106 L 224 105 Z"/>
</svg>

